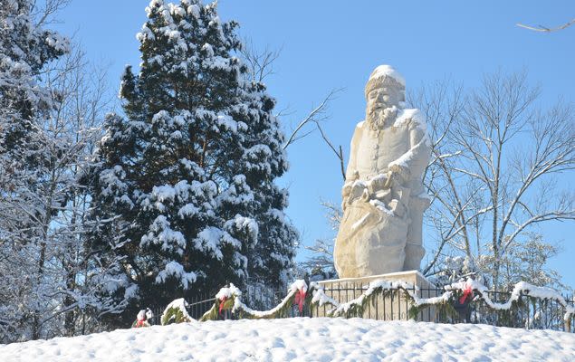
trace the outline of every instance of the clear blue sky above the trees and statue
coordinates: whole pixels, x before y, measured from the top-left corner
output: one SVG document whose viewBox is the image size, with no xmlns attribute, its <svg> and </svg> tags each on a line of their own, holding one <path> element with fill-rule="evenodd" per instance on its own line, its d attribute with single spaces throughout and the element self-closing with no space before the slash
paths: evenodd
<svg viewBox="0 0 575 362">
<path fill-rule="evenodd" d="M 146 20 L 146 0 L 72 0 L 59 16 L 62 33 L 76 33 L 91 60 L 110 64 L 110 85 L 118 89 L 124 64 L 139 63 L 135 33 Z M 240 23 L 240 34 L 256 47 L 282 48 L 267 80 L 286 130 L 302 119 L 332 88 L 344 87 L 331 103 L 326 125 L 332 141 L 348 154 L 355 124 L 364 116 L 363 88 L 379 64 L 393 65 L 407 88 L 446 77 L 466 87 L 484 72 L 529 71 L 541 83 L 543 105 L 562 97 L 575 101 L 575 26 L 558 33 L 535 33 L 515 26 L 554 26 L 575 17 L 575 2 L 515 1 L 237 1 L 221 0 L 220 17 Z M 320 201 L 340 202 L 337 159 L 318 135 L 302 139 L 288 156 L 288 215 L 302 242 L 331 237 Z M 575 183 L 574 173 L 567 184 Z M 575 223 L 541 228 L 563 252 L 552 260 L 564 281 L 575 287 Z M 425 242 L 424 242 L 425 243 Z M 430 246 L 429 246 L 430 247 Z"/>
</svg>

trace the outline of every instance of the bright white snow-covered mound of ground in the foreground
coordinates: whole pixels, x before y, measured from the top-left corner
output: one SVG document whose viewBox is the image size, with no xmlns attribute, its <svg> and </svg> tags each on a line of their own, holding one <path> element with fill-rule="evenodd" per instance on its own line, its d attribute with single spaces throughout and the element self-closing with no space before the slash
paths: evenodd
<svg viewBox="0 0 575 362">
<path fill-rule="evenodd" d="M 192 322 L 0 345 L 0 361 L 575 361 L 575 334 L 371 319 Z"/>
</svg>

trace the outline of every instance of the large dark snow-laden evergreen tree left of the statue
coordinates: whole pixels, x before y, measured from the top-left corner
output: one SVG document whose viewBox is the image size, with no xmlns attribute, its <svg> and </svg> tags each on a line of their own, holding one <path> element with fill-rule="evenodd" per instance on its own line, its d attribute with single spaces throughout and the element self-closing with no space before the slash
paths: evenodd
<svg viewBox="0 0 575 362">
<path fill-rule="evenodd" d="M 215 3 L 152 0 L 146 11 L 139 74 L 127 67 L 121 81 L 127 119 L 107 118 L 91 176 L 93 217 L 110 220 L 94 245 L 125 258 L 134 304 L 248 277 L 278 283 L 297 233 L 273 184 L 287 168 L 274 101 L 247 81 L 236 24 Z"/>
</svg>

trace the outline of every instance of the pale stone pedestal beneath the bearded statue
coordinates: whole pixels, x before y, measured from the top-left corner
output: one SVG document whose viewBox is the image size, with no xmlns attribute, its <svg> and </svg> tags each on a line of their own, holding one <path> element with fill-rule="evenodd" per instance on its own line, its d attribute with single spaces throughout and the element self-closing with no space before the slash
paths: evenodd
<svg viewBox="0 0 575 362">
<path fill-rule="evenodd" d="M 328 297 L 337 300 L 339 303 L 345 303 L 358 298 L 364 291 L 367 291 L 371 281 L 378 280 L 406 281 L 419 288 L 419 291 L 417 291 L 417 297 L 419 298 L 432 298 L 442 294 L 419 271 L 398 271 L 362 278 L 320 281 L 319 283 Z M 407 320 L 409 319 L 408 310 L 410 307 L 411 302 L 405 298 L 403 291 L 394 291 L 388 297 L 378 296 L 373 304 L 369 303 L 362 317 L 379 320 Z M 330 310 L 331 306 L 323 306 L 311 310 L 311 314 L 313 317 L 325 317 Z M 435 309 L 428 308 L 420 313 L 417 320 L 434 321 L 435 315 Z"/>
</svg>

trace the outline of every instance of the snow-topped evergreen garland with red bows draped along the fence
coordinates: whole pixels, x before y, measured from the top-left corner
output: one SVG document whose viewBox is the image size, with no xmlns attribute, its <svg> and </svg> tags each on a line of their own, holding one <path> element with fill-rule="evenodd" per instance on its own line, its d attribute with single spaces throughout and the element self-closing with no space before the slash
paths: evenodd
<svg viewBox="0 0 575 362">
<path fill-rule="evenodd" d="M 289 316 L 290 310 L 294 305 L 301 304 L 301 308 L 313 309 L 324 305 L 331 305 L 332 309 L 327 313 L 329 317 L 362 317 L 364 311 L 375 302 L 379 297 L 391 298 L 392 293 L 402 292 L 411 307 L 408 310 L 409 319 L 417 319 L 417 315 L 427 308 L 435 307 L 435 315 L 444 315 L 456 319 L 459 314 L 455 310 L 455 303 L 464 304 L 467 302 L 476 302 L 483 300 L 487 307 L 496 310 L 499 320 L 515 320 L 513 316 L 517 315 L 526 307 L 526 300 L 556 300 L 563 308 L 565 314 L 563 320 L 565 329 L 570 330 L 571 323 L 575 319 L 575 309 L 567 304 L 561 294 L 548 288 L 536 287 L 531 284 L 520 282 L 515 285 L 512 296 L 505 303 L 492 301 L 488 294 L 487 288 L 477 282 L 468 280 L 465 282 L 454 283 L 446 286 L 446 292 L 435 298 L 418 298 L 417 288 L 407 282 L 401 281 L 372 281 L 368 290 L 364 291 L 358 298 L 350 300 L 347 303 L 339 303 L 331 299 L 323 290 L 323 287 L 316 282 L 311 282 L 308 286 L 305 281 L 295 281 L 288 290 L 287 296 L 274 307 L 272 310 L 252 310 L 247 307 L 241 300 L 242 292 L 233 284 L 229 287 L 222 288 L 216 294 L 216 300 L 210 310 L 208 310 L 200 321 L 217 320 L 222 312 L 230 310 L 240 319 L 278 319 Z M 299 296 L 298 296 L 299 294 Z M 168 310 L 170 312 L 170 310 Z M 174 310 L 174 318 L 177 319 L 177 310 Z M 165 312 L 166 314 L 166 312 Z M 169 319 L 167 319 L 169 320 Z M 162 316 L 162 324 L 164 316 Z"/>
</svg>

